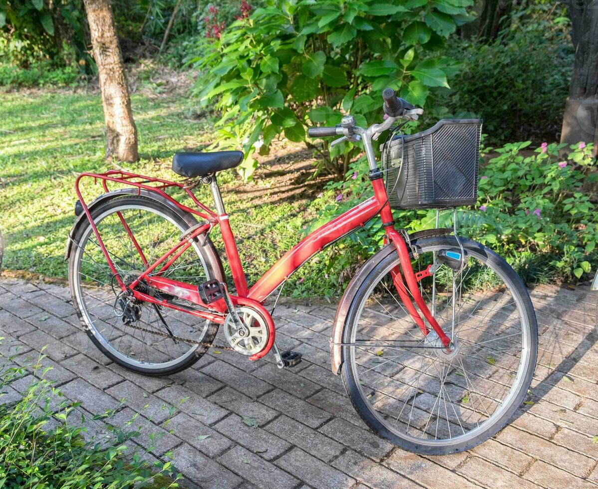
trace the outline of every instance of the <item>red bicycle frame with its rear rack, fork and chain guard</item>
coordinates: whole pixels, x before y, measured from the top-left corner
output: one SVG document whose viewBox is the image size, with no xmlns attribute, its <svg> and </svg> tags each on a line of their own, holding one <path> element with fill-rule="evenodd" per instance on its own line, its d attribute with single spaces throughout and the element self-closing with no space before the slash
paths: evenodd
<svg viewBox="0 0 598 489">
<path fill-rule="evenodd" d="M 382 223 L 386 233 L 385 240 L 388 243 L 393 243 L 400 259 L 400 268 L 395 267 L 391 271 L 393 283 L 396 290 L 404 302 L 408 313 L 413 317 L 414 322 L 419 326 L 424 335 L 427 335 L 430 328 L 440 337 L 443 345 L 448 347 L 450 339 L 444 334 L 443 330 L 438 325 L 435 318 L 432 316 L 427 305 L 425 304 L 422 295 L 419 292 L 417 283 L 425 276 L 429 276 L 429 267 L 426 270 L 420 271 L 417 275 L 413 271 L 411 266 L 411 259 L 409 257 L 409 250 L 405 240 L 395 229 L 395 225 L 392 217 L 392 210 L 388 203 L 388 195 L 386 194 L 386 188 L 383 184 L 381 174 L 379 176 L 371 175 L 372 185 L 374 188 L 374 196 L 368 198 L 357 206 L 353 207 L 347 212 L 342 213 L 336 218 L 329 221 L 327 224 L 313 231 L 309 236 L 305 237 L 301 242 L 292 247 L 291 250 L 285 253 L 282 258 L 279 259 L 251 288 L 248 287 L 247 280 L 245 277 L 245 271 L 239 258 L 239 250 L 234 239 L 233 231 L 230 227 L 230 222 L 227 213 L 225 213 L 224 205 L 219 194 L 218 185 L 216 184 L 215 176 L 212 176 L 212 193 L 216 201 L 216 208 L 219 212 L 213 212 L 209 207 L 202 204 L 190 188 L 185 187 L 183 184 L 177 182 L 171 182 L 164 179 L 151 178 L 143 175 L 137 175 L 135 173 L 121 172 L 117 170 L 111 170 L 106 173 L 82 173 L 75 182 L 75 190 L 77 191 L 77 197 L 79 198 L 83 210 L 86 213 L 87 219 L 90 222 L 91 228 L 96 236 L 97 243 L 102 249 L 105 255 L 106 261 L 110 267 L 110 270 L 114 274 L 115 280 L 118 286 L 124 291 L 129 290 L 133 297 L 140 301 L 152 302 L 159 304 L 164 307 L 169 307 L 175 310 L 184 311 L 185 313 L 193 314 L 194 316 L 209 319 L 210 321 L 217 323 L 224 323 L 225 314 L 227 307 L 223 299 L 212 302 L 211 304 L 205 304 L 199 295 L 199 289 L 196 285 L 190 283 L 179 282 L 177 280 L 167 279 L 162 277 L 161 274 L 166 271 L 176 259 L 185 253 L 191 246 L 193 246 L 194 239 L 203 233 L 208 233 L 216 225 L 220 226 L 222 240 L 224 241 L 225 252 L 227 254 L 228 262 L 230 264 L 231 275 L 233 278 L 234 286 L 236 288 L 236 295 L 231 294 L 231 301 L 234 305 L 248 305 L 257 308 L 260 313 L 266 319 L 269 328 L 269 341 L 266 347 L 261 352 L 258 352 L 249 359 L 256 360 L 263 357 L 269 352 L 274 343 L 274 323 L 270 317 L 270 314 L 266 311 L 263 306 L 266 298 L 276 290 L 285 280 L 287 280 L 298 268 L 307 262 L 316 253 L 321 252 L 329 244 L 341 239 L 347 234 L 352 233 L 359 227 L 365 225 L 366 222 L 370 221 L 371 218 L 380 214 Z M 170 203 L 179 207 L 184 212 L 192 213 L 193 215 L 199 216 L 205 219 L 205 224 L 199 227 L 192 228 L 188 234 L 181 237 L 179 243 L 177 243 L 172 249 L 164 253 L 163 256 L 157 259 L 152 264 L 147 262 L 141 247 L 135 240 L 132 231 L 124 221 L 123 216 L 118 213 L 118 216 L 125 228 L 128 236 L 132 240 L 135 248 L 140 253 L 142 261 L 146 265 L 144 273 L 142 273 L 133 283 L 127 286 L 120 275 L 118 274 L 117 268 L 114 265 L 106 247 L 102 241 L 93 219 L 91 218 L 91 212 L 89 207 L 84 201 L 83 195 L 80 190 L 80 181 L 83 178 L 93 178 L 94 181 L 98 179 L 102 181 L 103 188 L 106 192 L 108 189 L 108 182 L 116 182 L 118 184 L 124 184 L 129 187 L 138 189 L 138 193 L 141 190 L 147 190 L 151 192 L 157 192 L 161 197 L 166 198 Z M 192 209 L 191 207 L 184 206 L 179 203 L 173 197 L 165 192 L 167 188 L 181 188 L 184 190 L 188 197 L 191 198 L 194 204 L 201 210 Z M 157 271 L 156 271 L 157 270 Z M 144 280 L 152 288 L 166 292 L 167 294 L 175 295 L 176 297 L 186 299 L 187 301 L 199 306 L 199 309 L 190 310 L 188 308 L 180 307 L 179 305 L 172 304 L 166 299 L 158 299 L 151 295 L 144 294 L 136 290 L 136 286 Z M 415 305 L 411 301 L 413 298 Z M 419 308 L 419 312 L 416 309 Z M 420 314 L 421 313 L 421 314 Z M 423 316 L 423 317 L 422 317 Z M 426 325 L 426 322 L 428 325 Z"/>
</svg>

